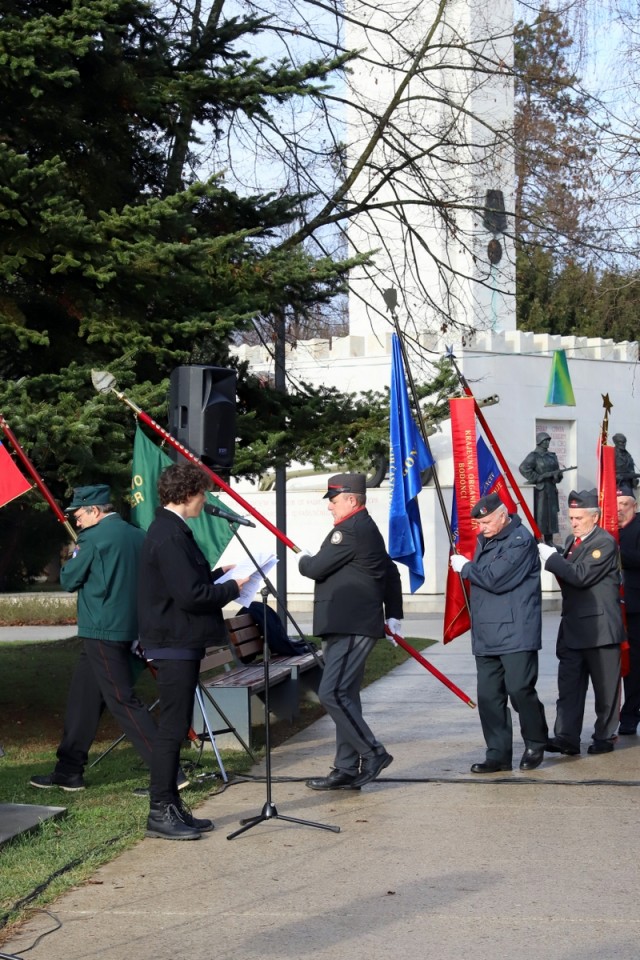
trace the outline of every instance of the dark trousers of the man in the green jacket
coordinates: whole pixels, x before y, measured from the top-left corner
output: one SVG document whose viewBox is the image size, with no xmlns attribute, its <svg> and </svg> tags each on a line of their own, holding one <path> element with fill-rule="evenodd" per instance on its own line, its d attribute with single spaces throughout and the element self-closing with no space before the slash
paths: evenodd
<svg viewBox="0 0 640 960">
<path fill-rule="evenodd" d="M 103 710 L 111 713 L 147 767 L 156 725 L 133 692 L 129 643 L 83 640 L 82 652 L 69 689 L 64 731 L 57 750 L 56 772 L 82 773 L 96 738 Z"/>
</svg>

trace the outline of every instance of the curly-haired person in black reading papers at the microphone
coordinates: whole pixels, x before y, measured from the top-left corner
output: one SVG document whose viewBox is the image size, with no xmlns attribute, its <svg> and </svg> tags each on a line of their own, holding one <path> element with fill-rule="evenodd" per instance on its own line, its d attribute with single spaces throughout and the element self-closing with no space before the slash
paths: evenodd
<svg viewBox="0 0 640 960">
<path fill-rule="evenodd" d="M 151 756 L 147 836 L 197 840 L 212 830 L 180 800 L 176 776 L 180 747 L 191 724 L 200 661 L 206 647 L 227 639 L 222 607 L 235 600 L 243 580 L 214 581 L 229 567 L 209 568 L 187 520 L 197 517 L 211 487 L 194 464 L 167 467 L 158 480 L 161 506 L 142 545 L 138 576 L 140 645 L 156 669 L 160 701 Z"/>
</svg>

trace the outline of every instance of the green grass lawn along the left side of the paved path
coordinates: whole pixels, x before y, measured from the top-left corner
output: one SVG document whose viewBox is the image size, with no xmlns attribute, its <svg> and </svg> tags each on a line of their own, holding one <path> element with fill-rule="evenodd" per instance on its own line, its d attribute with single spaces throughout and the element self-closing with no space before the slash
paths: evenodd
<svg viewBox="0 0 640 960">
<path fill-rule="evenodd" d="M 0 613 L 0 622 L 6 619 Z M 418 648 L 426 640 L 411 640 Z M 71 672 L 79 641 L 0 644 L 0 803 L 64 806 L 64 819 L 43 824 L 37 831 L 6 843 L 0 850 L 0 943 L 31 909 L 51 904 L 70 887 L 88 880 L 96 868 L 133 846 L 144 836 L 148 801 L 136 797 L 136 787 L 147 786 L 148 774 L 135 751 L 125 741 L 85 773 L 89 789 L 79 793 L 36 790 L 29 786 L 35 773 L 49 773 L 61 733 Z M 365 685 L 384 676 L 408 657 L 401 649 L 380 642 L 368 659 Z M 138 694 L 147 703 L 155 699 L 153 679 L 144 671 Z M 295 724 L 274 723 L 272 745 L 277 746 L 297 730 L 322 715 L 318 704 L 302 705 Z M 102 719 L 90 762 L 109 746 L 120 731 L 107 714 Z M 215 774 L 212 751 L 203 765 L 190 771 L 198 750 L 185 745 L 183 766 L 195 778 Z M 229 778 L 251 767 L 244 751 L 225 751 Z M 196 808 L 222 787 L 220 779 L 194 780 L 182 794 Z"/>
</svg>

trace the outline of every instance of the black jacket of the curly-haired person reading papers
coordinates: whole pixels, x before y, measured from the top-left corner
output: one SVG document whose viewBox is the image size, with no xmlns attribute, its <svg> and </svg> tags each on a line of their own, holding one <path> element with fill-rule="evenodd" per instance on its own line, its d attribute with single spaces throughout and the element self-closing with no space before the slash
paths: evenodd
<svg viewBox="0 0 640 960">
<path fill-rule="evenodd" d="M 227 640 L 222 607 L 235 600 L 235 580 L 216 585 L 185 521 L 159 507 L 142 545 L 138 620 L 143 648 L 204 648 Z"/>
</svg>

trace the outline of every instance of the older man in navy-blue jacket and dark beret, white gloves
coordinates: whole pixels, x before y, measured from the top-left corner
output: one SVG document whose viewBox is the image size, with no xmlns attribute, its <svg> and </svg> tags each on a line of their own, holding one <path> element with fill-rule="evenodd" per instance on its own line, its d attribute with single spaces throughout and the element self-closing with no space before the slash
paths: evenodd
<svg viewBox="0 0 640 960">
<path fill-rule="evenodd" d="M 508 700 L 520 718 L 521 770 L 544 759 L 548 729 L 536 691 L 542 646 L 540 561 L 535 540 L 497 493 L 482 497 L 471 516 L 480 527 L 473 561 L 459 554 L 452 568 L 471 584 L 471 646 L 478 670 L 478 712 L 487 744 L 472 773 L 511 770 L 513 731 Z"/>
</svg>

